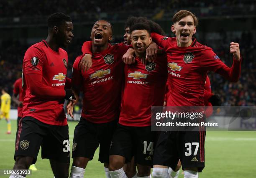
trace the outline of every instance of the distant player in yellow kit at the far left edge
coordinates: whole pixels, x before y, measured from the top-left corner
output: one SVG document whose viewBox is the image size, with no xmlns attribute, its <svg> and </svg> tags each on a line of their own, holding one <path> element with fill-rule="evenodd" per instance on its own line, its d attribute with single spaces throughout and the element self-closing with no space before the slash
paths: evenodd
<svg viewBox="0 0 256 178">
<path fill-rule="evenodd" d="M 7 89 L 2 89 L 2 96 L 1 96 L 1 110 L 0 110 L 0 120 L 5 118 L 7 122 L 7 134 L 11 133 L 11 124 L 10 124 L 10 102 L 11 97 L 7 93 Z"/>
</svg>

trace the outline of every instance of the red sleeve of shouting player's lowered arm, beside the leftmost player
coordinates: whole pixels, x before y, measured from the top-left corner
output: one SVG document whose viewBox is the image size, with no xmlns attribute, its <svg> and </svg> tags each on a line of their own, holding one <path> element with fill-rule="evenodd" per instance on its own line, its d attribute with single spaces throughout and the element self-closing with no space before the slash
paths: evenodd
<svg viewBox="0 0 256 178">
<path fill-rule="evenodd" d="M 72 73 L 72 79 L 71 79 L 72 88 L 77 88 L 78 86 L 82 85 L 83 78 L 82 78 L 81 70 L 79 69 L 79 62 L 81 58 L 82 56 L 77 56 L 73 64 L 73 73 Z"/>
</svg>

